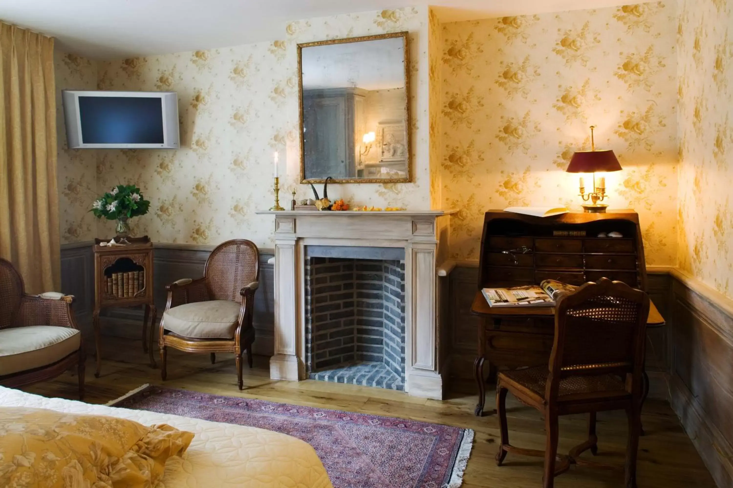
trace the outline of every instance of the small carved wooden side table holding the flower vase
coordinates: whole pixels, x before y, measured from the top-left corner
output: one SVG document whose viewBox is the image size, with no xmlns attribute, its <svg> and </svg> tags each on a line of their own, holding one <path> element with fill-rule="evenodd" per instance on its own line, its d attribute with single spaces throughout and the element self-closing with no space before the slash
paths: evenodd
<svg viewBox="0 0 733 488">
<path fill-rule="evenodd" d="M 152 298 L 152 242 L 147 236 L 128 237 L 130 244 L 125 246 L 100 246 L 109 239 L 95 239 L 95 307 L 94 335 L 97 349 L 98 378 L 102 369 L 99 313 L 107 307 L 136 307 L 145 305 L 142 323 L 142 349 L 148 352 L 147 320 L 152 312 L 150 329 L 155 324 L 155 302 Z M 150 346 L 150 365 L 152 344 Z"/>
</svg>

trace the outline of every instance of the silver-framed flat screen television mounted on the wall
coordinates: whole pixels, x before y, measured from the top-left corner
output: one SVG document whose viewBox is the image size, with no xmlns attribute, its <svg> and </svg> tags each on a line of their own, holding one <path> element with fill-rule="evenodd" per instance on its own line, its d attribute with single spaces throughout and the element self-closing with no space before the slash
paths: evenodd
<svg viewBox="0 0 733 488">
<path fill-rule="evenodd" d="M 178 149 L 175 92 L 63 90 L 70 149 Z"/>
</svg>

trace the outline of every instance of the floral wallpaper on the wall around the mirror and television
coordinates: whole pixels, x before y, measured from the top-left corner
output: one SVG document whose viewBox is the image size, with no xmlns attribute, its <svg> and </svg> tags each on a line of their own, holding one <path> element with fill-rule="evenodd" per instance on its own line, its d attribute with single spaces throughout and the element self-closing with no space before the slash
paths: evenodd
<svg viewBox="0 0 733 488">
<path fill-rule="evenodd" d="M 435 18 L 430 22 L 438 30 Z M 310 187 L 299 183 L 296 45 L 409 31 L 414 183 L 334 185 L 329 196 L 429 208 L 435 167 L 440 170 L 440 159 L 430 164 L 440 149 L 429 142 L 435 127 L 429 119 L 429 99 L 435 96 L 428 91 L 429 76 L 438 72 L 433 68 L 429 74 L 428 43 L 435 42 L 429 40 L 430 26 L 427 7 L 337 15 L 288 23 L 282 39 L 272 43 L 99 62 L 100 90 L 178 93 L 182 148 L 97 150 L 97 192 L 117 183 L 138 184 L 151 211 L 131 221 L 133 232 L 154 241 L 218 244 L 246 237 L 273 247 L 272 217 L 254 214 L 273 205 L 273 151 L 281 156 L 281 205 L 290 205 L 294 188 L 298 199 L 312 196 Z M 439 106 L 432 108 L 439 113 Z M 96 231 L 107 235 L 113 228 L 100 222 Z"/>
</svg>

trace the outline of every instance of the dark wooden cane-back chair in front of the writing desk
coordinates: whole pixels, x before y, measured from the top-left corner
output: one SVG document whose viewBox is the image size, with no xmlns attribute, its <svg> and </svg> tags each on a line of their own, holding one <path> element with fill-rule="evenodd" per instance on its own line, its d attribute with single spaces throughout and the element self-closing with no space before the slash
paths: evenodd
<svg viewBox="0 0 733 488">
<path fill-rule="evenodd" d="M 562 297 L 556 305 L 555 339 L 549 366 L 502 371 L 496 385 L 501 443 L 496 462 L 507 452 L 544 456 L 542 486 L 580 459 L 583 451 L 597 454 L 596 412 L 626 410 L 629 437 L 625 486 L 636 488 L 636 454 L 641 431 L 642 374 L 649 296 L 625 283 L 601 278 Z M 507 392 L 545 416 L 545 451 L 509 444 Z M 558 416 L 589 414 L 588 440 L 567 456 L 557 456 Z M 556 466 L 556 462 L 559 464 Z"/>
</svg>

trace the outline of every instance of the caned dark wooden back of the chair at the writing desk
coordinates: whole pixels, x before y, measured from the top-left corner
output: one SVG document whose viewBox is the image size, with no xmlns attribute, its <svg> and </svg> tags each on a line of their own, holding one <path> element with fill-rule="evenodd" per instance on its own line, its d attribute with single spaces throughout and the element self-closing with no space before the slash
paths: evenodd
<svg viewBox="0 0 733 488">
<path fill-rule="evenodd" d="M 550 379 L 613 373 L 640 386 L 649 296 L 625 283 L 601 278 L 560 299 Z M 551 385 L 548 381 L 548 396 Z"/>
</svg>

